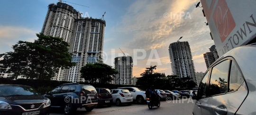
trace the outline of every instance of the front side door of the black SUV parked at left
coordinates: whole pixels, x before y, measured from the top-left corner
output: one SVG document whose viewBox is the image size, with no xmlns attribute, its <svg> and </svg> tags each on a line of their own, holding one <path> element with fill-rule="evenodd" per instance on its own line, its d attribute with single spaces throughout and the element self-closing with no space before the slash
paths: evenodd
<svg viewBox="0 0 256 115">
<path fill-rule="evenodd" d="M 57 87 L 55 89 L 53 89 L 52 91 L 50 91 L 48 94 L 46 94 L 46 97 L 49 98 L 51 100 L 51 106 L 55 107 L 57 106 L 57 101 L 56 101 L 56 95 L 59 94 L 61 87 Z"/>
</svg>

